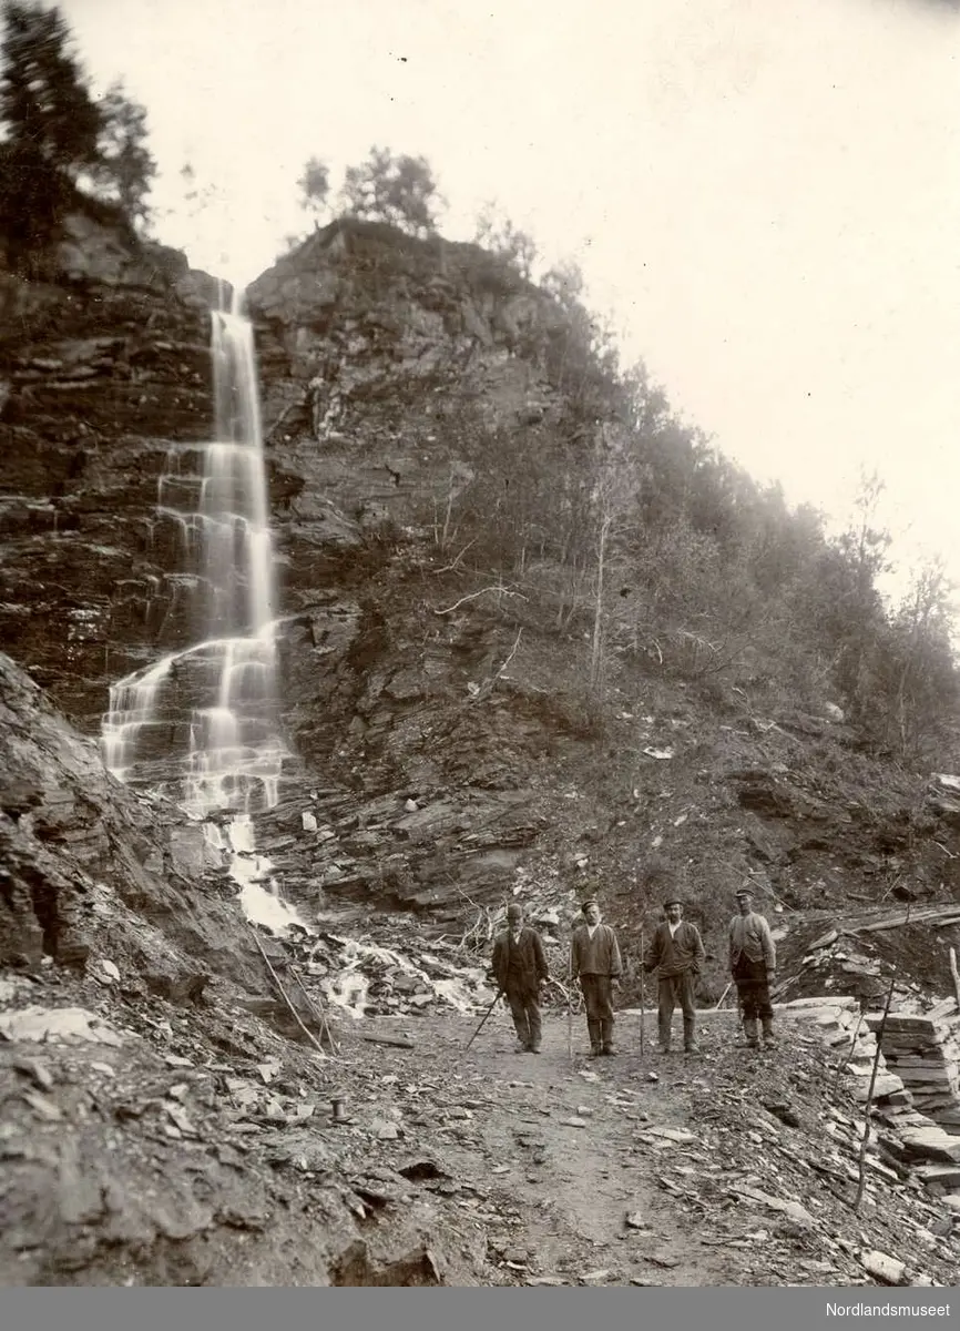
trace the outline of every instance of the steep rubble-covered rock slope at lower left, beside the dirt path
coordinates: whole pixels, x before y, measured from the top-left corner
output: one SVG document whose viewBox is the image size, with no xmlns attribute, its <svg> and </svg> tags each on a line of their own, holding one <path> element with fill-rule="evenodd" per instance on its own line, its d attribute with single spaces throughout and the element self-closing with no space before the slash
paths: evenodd
<svg viewBox="0 0 960 1331">
<path fill-rule="evenodd" d="M 370 1223 L 235 888 L 5 656 L 0 771 L 0 1284 L 483 1279 L 402 1175 Z"/>
</svg>

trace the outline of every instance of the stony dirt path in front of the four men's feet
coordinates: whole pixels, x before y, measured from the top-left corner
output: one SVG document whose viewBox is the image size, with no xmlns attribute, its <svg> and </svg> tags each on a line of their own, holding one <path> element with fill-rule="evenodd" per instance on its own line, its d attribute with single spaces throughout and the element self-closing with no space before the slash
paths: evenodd
<svg viewBox="0 0 960 1331">
<path fill-rule="evenodd" d="M 735 1049 L 733 1014 L 705 1024 L 701 1057 L 654 1053 L 649 1014 L 642 1058 L 637 1016 L 621 1014 L 613 1058 L 585 1055 L 582 1017 L 572 1059 L 565 1018 L 545 1021 L 540 1054 L 520 1053 L 500 1006 L 464 1058 L 473 1025 L 376 1024 L 416 1040 L 415 1054 L 383 1050 L 384 1063 L 416 1078 L 406 1086 L 406 1133 L 429 1146 L 448 1186 L 464 1194 L 460 1205 L 487 1221 L 489 1256 L 505 1279 L 743 1283 L 739 1254 L 725 1251 L 713 1229 L 702 1235 L 713 1242 L 701 1242 L 677 1193 L 660 1182 L 721 1167 L 691 1130 L 690 1109 L 718 1059 L 749 1067 L 755 1058 Z"/>
</svg>

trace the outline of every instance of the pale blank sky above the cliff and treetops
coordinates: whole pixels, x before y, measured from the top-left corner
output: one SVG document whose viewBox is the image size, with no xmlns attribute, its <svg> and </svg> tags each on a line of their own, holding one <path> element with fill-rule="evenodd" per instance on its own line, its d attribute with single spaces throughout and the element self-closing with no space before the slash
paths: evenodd
<svg viewBox="0 0 960 1331">
<path fill-rule="evenodd" d="M 960 583 L 960 0 L 59 8 L 146 106 L 194 266 L 269 268 L 311 156 L 423 154 L 445 236 L 496 200 L 729 457 L 840 522 L 878 471 L 901 567 Z"/>
</svg>

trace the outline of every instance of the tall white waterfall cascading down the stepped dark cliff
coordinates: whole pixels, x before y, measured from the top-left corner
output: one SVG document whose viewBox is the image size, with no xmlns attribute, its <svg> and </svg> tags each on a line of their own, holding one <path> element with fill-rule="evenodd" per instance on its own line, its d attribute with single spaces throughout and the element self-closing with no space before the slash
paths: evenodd
<svg viewBox="0 0 960 1331">
<path fill-rule="evenodd" d="M 239 290 L 229 310 L 211 311 L 211 358 L 215 438 L 169 450 L 156 504 L 154 530 L 176 534 L 182 567 L 166 576 L 193 644 L 110 688 L 102 751 L 121 781 L 169 788 L 173 747 L 178 799 L 193 819 L 233 815 L 226 837 L 205 821 L 206 840 L 233 856 L 247 914 L 269 884 L 275 909 L 263 922 L 277 928 L 298 917 L 253 845 L 251 815 L 277 804 L 286 748 L 257 362 Z"/>
</svg>

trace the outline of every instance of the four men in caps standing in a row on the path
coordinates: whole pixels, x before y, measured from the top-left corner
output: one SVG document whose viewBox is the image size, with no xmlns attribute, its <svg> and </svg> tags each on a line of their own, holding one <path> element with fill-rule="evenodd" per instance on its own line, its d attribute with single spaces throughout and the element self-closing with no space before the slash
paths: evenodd
<svg viewBox="0 0 960 1331">
<path fill-rule="evenodd" d="M 586 1006 L 586 1030 L 594 1057 L 616 1053 L 613 1047 L 613 990 L 624 972 L 614 930 L 602 922 L 596 900 L 584 901 L 584 921 L 570 941 L 570 978 L 580 981 Z M 698 1053 L 694 992 L 705 958 L 703 941 L 695 925 L 683 920 L 683 904 L 677 897 L 663 901 L 666 918 L 657 925 L 644 957 L 644 972 L 656 973 L 660 1051 L 670 1053 L 673 1013 L 683 1014 L 683 1050 Z M 729 957 L 747 1046 L 775 1047 L 774 1010 L 770 981 L 777 969 L 777 948 L 770 925 L 753 909 L 749 888 L 737 893 L 737 914 L 730 921 Z M 507 908 L 507 928 L 493 942 L 491 962 L 497 989 L 509 1004 L 520 1047 L 540 1053 L 542 1020 L 540 990 L 549 980 L 544 944 L 536 929 L 524 924 L 517 902 Z"/>
</svg>

